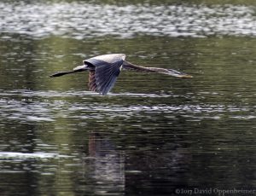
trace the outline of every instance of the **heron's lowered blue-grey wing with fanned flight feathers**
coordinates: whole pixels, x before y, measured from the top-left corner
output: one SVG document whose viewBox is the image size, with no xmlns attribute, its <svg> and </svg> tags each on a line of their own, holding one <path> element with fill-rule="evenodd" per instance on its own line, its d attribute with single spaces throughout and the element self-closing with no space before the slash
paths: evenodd
<svg viewBox="0 0 256 196">
<path fill-rule="evenodd" d="M 102 95 L 108 94 L 119 76 L 123 60 L 119 59 L 119 61 L 109 63 L 102 60 L 90 59 L 87 62 L 95 66 L 95 70 L 90 70 L 89 89 L 99 92 Z"/>
</svg>

